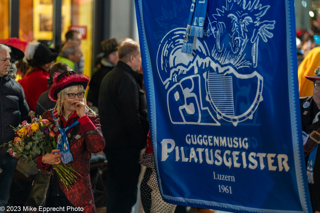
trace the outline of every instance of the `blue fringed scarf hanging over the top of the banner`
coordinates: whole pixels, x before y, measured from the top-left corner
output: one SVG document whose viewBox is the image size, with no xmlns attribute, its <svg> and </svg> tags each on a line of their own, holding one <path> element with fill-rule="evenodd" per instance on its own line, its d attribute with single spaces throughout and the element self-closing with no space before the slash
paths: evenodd
<svg viewBox="0 0 320 213">
<path fill-rule="evenodd" d="M 207 11 L 207 0 L 192 0 L 186 35 L 181 52 L 192 53 L 193 42 L 197 37 L 203 37 L 203 26 Z"/>
</svg>

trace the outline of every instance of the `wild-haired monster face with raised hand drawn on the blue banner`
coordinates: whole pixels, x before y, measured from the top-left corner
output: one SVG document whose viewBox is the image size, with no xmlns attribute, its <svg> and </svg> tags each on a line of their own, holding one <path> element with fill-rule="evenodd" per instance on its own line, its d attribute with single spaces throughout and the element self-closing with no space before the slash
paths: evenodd
<svg viewBox="0 0 320 213">
<path fill-rule="evenodd" d="M 257 67 L 259 39 L 268 42 L 276 21 L 264 20 L 269 5 L 259 0 L 226 0 L 226 6 L 207 15 L 208 28 L 204 34 L 215 38 L 212 57 L 221 64 L 231 63 L 236 68 Z M 227 17 L 227 18 L 226 18 Z M 251 54 L 251 59 L 248 57 Z"/>
</svg>

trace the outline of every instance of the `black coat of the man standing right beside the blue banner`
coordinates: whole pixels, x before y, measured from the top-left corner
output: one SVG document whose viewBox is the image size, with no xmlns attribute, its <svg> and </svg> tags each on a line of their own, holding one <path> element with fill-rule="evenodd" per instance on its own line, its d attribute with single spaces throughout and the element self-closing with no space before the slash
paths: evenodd
<svg viewBox="0 0 320 213">
<path fill-rule="evenodd" d="M 106 148 L 145 147 L 149 122 L 142 80 L 142 74 L 122 61 L 103 78 L 99 115 Z"/>
</svg>

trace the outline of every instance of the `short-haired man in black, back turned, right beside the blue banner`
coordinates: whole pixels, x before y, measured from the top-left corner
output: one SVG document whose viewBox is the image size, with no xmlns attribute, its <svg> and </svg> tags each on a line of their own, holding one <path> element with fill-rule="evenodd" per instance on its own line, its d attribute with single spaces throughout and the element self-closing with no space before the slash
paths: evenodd
<svg viewBox="0 0 320 213">
<path fill-rule="evenodd" d="M 121 43 L 119 62 L 100 87 L 99 115 L 108 160 L 107 213 L 130 213 L 137 200 L 140 150 L 149 130 L 143 75 L 137 72 L 140 65 L 139 44 Z"/>
</svg>

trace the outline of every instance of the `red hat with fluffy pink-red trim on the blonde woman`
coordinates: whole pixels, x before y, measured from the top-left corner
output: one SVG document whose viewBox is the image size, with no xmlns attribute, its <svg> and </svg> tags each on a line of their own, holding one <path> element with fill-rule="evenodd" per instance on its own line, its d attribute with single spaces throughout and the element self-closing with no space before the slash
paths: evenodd
<svg viewBox="0 0 320 213">
<path fill-rule="evenodd" d="M 77 74 L 74 71 L 67 71 L 53 74 L 52 85 L 49 88 L 49 98 L 52 101 L 57 101 L 58 93 L 67 87 L 82 85 L 84 89 L 89 84 L 89 76 L 85 74 Z"/>
</svg>

